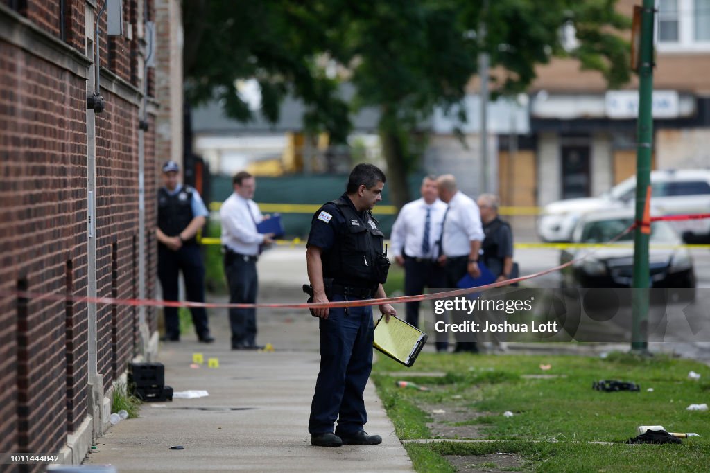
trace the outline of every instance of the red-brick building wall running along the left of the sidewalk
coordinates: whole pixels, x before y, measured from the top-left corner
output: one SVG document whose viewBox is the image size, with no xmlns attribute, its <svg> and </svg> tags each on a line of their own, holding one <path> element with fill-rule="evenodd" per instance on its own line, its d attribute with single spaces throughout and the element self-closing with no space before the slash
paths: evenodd
<svg viewBox="0 0 710 473">
<path fill-rule="evenodd" d="M 128 363 L 157 347 L 154 308 L 92 298 L 155 297 L 167 156 L 146 51 L 156 11 L 178 2 L 107 4 L 0 2 L 0 452 L 65 463 L 109 427 Z"/>
</svg>

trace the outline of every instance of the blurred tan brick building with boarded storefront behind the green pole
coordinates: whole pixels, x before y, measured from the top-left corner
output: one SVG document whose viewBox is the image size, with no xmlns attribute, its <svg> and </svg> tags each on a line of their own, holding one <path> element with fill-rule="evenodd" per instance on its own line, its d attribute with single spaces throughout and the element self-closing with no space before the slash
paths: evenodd
<svg viewBox="0 0 710 473">
<path fill-rule="evenodd" d="M 639 3 L 619 0 L 617 9 L 630 17 Z M 656 18 L 653 166 L 707 167 L 710 3 L 659 0 Z M 636 77 L 608 90 L 601 74 L 580 71 L 574 60 L 539 67 L 530 88 L 532 139 L 523 150 L 536 157 L 535 204 L 599 195 L 635 174 L 637 110 Z"/>
</svg>

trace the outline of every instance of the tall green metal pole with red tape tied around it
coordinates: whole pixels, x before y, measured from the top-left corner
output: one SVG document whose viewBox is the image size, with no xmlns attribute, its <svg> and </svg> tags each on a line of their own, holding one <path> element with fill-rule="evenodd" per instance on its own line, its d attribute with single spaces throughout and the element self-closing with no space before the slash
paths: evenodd
<svg viewBox="0 0 710 473">
<path fill-rule="evenodd" d="M 641 13 L 640 63 L 638 65 L 638 146 L 636 149 L 636 222 L 643 219 L 646 193 L 651 180 L 653 143 L 653 18 L 654 0 L 643 0 Z M 648 230 L 648 228 L 646 229 Z M 633 328 L 631 350 L 648 352 L 648 295 L 650 233 L 636 226 L 633 239 Z"/>
</svg>

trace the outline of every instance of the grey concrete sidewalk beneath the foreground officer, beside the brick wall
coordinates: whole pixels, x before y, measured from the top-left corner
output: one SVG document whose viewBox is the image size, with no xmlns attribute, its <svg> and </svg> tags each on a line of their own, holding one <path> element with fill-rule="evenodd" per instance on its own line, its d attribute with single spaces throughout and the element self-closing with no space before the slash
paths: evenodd
<svg viewBox="0 0 710 473">
<path fill-rule="evenodd" d="M 267 253 L 259 270 L 260 301 L 303 299 L 292 289 L 305 277 L 300 275 L 305 273 L 303 259 L 284 262 Z M 299 284 L 286 288 L 276 274 L 288 274 Z M 383 443 L 310 445 L 308 416 L 320 362 L 318 324 L 310 313 L 258 313 L 257 341 L 273 344 L 275 352 L 231 351 L 226 309 L 209 316 L 214 344 L 203 345 L 194 333 L 183 334 L 180 343 L 162 344 L 158 357 L 165 365 L 165 384 L 175 391 L 204 389 L 209 396 L 143 404 L 140 418 L 111 428 L 84 464 L 112 464 L 119 472 L 412 471 L 371 383 L 365 391 L 365 429 L 382 435 Z M 194 352 L 204 355 L 200 369 L 190 368 Z M 219 368 L 207 367 L 209 357 L 219 358 Z M 172 445 L 185 450 L 168 450 Z"/>
</svg>

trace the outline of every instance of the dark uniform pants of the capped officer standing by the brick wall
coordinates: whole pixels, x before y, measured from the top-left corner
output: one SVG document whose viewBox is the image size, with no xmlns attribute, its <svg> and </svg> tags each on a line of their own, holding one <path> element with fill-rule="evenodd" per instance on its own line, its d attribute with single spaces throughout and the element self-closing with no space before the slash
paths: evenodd
<svg viewBox="0 0 710 473">
<path fill-rule="evenodd" d="M 204 302 L 204 265 L 200 247 L 197 245 L 182 245 L 180 250 L 173 251 L 163 245 L 158 245 L 158 278 L 163 288 L 164 301 L 178 301 L 180 289 L 178 277 L 182 271 L 185 279 L 187 300 Z M 200 338 L 209 335 L 207 326 L 207 311 L 202 307 L 190 308 L 195 332 Z M 165 307 L 165 335 L 173 340 L 180 338 L 180 319 L 177 307 Z"/>
</svg>

